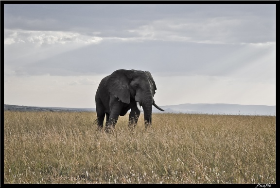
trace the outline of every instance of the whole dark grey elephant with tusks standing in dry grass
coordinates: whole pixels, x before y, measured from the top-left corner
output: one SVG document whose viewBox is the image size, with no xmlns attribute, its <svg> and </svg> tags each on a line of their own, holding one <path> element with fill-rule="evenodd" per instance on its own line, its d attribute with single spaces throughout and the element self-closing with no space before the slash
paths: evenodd
<svg viewBox="0 0 280 188">
<path fill-rule="evenodd" d="M 144 112 L 145 127 L 151 126 L 152 106 L 164 111 L 154 101 L 156 90 L 148 71 L 119 69 L 103 78 L 95 94 L 98 129 L 103 129 L 105 115 L 105 131 L 114 129 L 119 116 L 130 109 L 129 127 L 136 126 L 140 111 Z"/>
</svg>

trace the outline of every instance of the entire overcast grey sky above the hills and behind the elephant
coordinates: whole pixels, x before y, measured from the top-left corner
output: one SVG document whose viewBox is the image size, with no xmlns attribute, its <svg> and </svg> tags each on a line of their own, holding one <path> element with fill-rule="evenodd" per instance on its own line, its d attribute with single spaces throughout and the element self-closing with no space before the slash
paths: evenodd
<svg viewBox="0 0 280 188">
<path fill-rule="evenodd" d="M 4 4 L 4 104 L 95 108 L 117 69 L 158 106 L 276 105 L 276 5 Z"/>
</svg>

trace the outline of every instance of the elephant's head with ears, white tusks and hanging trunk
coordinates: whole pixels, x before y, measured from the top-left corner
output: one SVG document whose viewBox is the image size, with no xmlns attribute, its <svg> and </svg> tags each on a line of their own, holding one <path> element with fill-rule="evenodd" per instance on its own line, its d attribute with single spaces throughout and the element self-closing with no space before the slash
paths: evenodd
<svg viewBox="0 0 280 188">
<path fill-rule="evenodd" d="M 148 71 L 117 70 L 108 78 L 109 92 L 119 101 L 131 106 L 137 104 L 137 108 L 144 112 L 145 125 L 152 121 L 152 106 L 159 108 L 154 101 L 156 83 Z M 143 110 L 140 108 L 142 106 Z"/>
</svg>

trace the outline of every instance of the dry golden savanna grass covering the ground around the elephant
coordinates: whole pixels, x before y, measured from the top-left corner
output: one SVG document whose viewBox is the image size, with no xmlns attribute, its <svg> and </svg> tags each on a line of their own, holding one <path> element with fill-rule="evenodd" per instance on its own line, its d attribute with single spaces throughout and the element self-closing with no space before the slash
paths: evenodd
<svg viewBox="0 0 280 188">
<path fill-rule="evenodd" d="M 4 112 L 4 184 L 276 184 L 276 116 Z"/>
</svg>

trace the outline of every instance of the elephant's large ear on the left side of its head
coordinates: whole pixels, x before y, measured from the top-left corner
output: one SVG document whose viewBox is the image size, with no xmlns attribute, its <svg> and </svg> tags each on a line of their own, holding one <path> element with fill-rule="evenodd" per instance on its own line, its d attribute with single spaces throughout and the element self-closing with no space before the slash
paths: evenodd
<svg viewBox="0 0 280 188">
<path fill-rule="evenodd" d="M 110 94 L 113 94 L 119 101 L 130 103 L 130 88 L 128 79 L 122 70 L 113 72 L 107 79 L 107 89 Z"/>
</svg>

